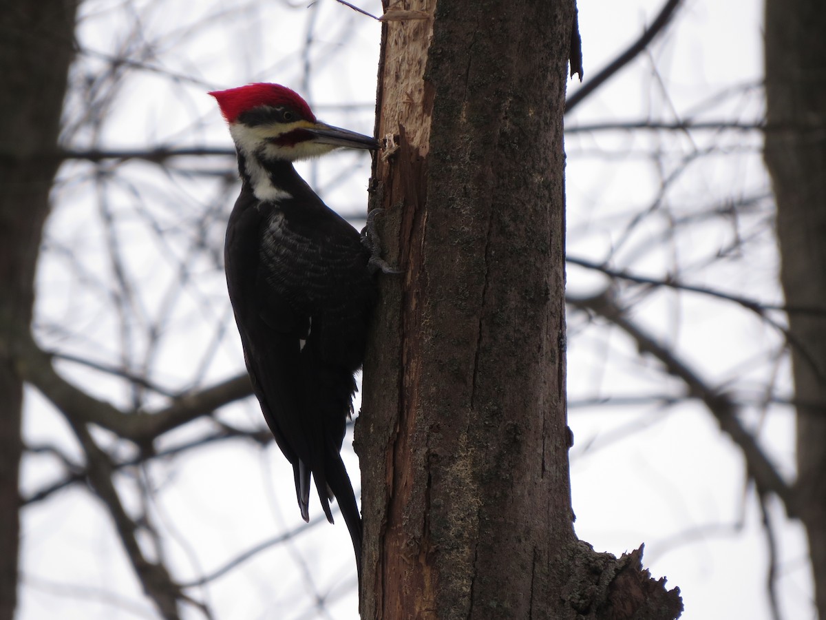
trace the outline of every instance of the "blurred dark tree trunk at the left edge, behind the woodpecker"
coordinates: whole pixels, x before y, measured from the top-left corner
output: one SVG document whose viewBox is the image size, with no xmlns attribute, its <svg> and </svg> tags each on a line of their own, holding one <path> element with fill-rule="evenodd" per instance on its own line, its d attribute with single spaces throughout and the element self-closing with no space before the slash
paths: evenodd
<svg viewBox="0 0 826 620">
<path fill-rule="evenodd" d="M 0 620 L 17 605 L 23 385 L 13 351 L 31 323 L 76 10 L 17 0 L 0 11 Z"/>
</svg>

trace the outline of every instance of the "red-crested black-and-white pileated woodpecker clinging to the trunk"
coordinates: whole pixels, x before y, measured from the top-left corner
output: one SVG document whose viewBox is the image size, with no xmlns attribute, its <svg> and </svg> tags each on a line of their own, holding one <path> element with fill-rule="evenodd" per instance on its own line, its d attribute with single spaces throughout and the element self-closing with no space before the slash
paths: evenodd
<svg viewBox="0 0 826 620">
<path fill-rule="evenodd" d="M 378 142 L 316 121 L 289 88 L 254 83 L 210 93 L 230 126 L 241 193 L 226 230 L 225 269 L 249 377 L 292 463 L 301 517 L 310 479 L 330 522 L 335 496 L 361 577 L 362 522 L 339 451 L 353 412 L 375 301 L 369 244 L 292 167 Z"/>
</svg>

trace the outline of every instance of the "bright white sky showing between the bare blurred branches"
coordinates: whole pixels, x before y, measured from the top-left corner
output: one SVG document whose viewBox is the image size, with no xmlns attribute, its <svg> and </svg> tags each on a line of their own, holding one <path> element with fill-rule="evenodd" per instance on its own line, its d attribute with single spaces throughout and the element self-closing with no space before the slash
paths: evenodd
<svg viewBox="0 0 826 620">
<path fill-rule="evenodd" d="M 661 4 L 580 0 L 586 80 L 638 36 Z M 360 6 L 374 14 L 381 10 L 378 2 Z M 82 12 L 79 40 L 86 53 L 75 68 L 75 83 L 88 75 L 87 88 L 69 98 L 66 112 L 71 128 L 66 141 L 74 148 L 229 148 L 228 132 L 206 91 L 251 81 L 290 85 L 325 121 L 364 133 L 373 130 L 380 26 L 332 0 L 310 8 L 282 2 L 88 0 Z M 647 118 L 758 120 L 762 92 L 734 87 L 762 77 L 762 2 L 688 0 L 676 20 L 648 55 L 578 107 L 566 125 Z M 131 36 L 135 31 L 142 35 Z M 108 59 L 119 54 L 135 66 L 118 69 L 123 77 L 112 89 L 111 80 L 101 76 L 112 67 Z M 569 90 L 576 88 L 571 83 Z M 709 103 L 727 88 L 734 88 L 734 94 Z M 107 110 L 106 120 L 78 122 L 90 108 Z M 610 255 L 615 268 L 653 277 L 679 267 L 681 278 L 691 284 L 780 302 L 765 198 L 762 209 L 742 212 L 736 221 L 715 218 L 669 234 L 673 222 L 695 217 L 710 205 L 765 196 L 761 145 L 756 134 L 710 131 L 691 138 L 621 132 L 567 136 L 569 253 L 597 262 Z M 662 153 L 662 168 L 644 155 L 651 150 Z M 695 157 L 705 150 L 714 155 Z M 151 164 L 112 164 L 104 182 L 93 177 L 90 165 L 66 165 L 40 265 L 40 342 L 110 365 L 121 363 L 127 343 L 131 363 L 148 356 L 150 378 L 172 391 L 239 372 L 240 343 L 219 269 L 225 218 L 236 192 L 222 174 L 233 165 L 221 158 L 179 159 L 164 175 Z M 301 172 L 332 207 L 363 217 L 369 174 L 363 154 L 335 155 L 303 165 Z M 661 177 L 675 172 L 679 174 L 660 206 L 626 234 L 634 214 L 657 196 Z M 104 185 L 106 200 L 97 192 Z M 107 214 L 116 222 L 110 229 Z M 745 240 L 738 255 L 710 260 L 735 234 Z M 121 248 L 121 267 L 138 291 L 129 300 L 125 321 L 113 309 L 116 294 L 107 284 L 114 269 L 111 242 Z M 184 285 L 182 265 L 191 275 Z M 604 284 L 586 269 L 568 269 L 572 293 L 596 293 Z M 781 339 L 752 315 L 731 303 L 686 293 L 639 298 L 634 317 L 664 341 L 676 343 L 712 384 L 753 401 L 762 397 L 768 378 L 776 376 L 775 395 L 789 395 L 786 359 L 771 359 Z M 140 334 L 156 322 L 162 337 L 153 349 Z M 578 406 L 593 398 L 611 397 L 615 403 L 621 397 L 677 396 L 681 386 L 666 378 L 656 361 L 640 359 L 619 332 L 594 327 L 575 313 L 569 327 L 577 535 L 599 551 L 618 555 L 644 542 L 644 564 L 655 577 L 667 576 L 670 585 L 680 586 L 683 618 L 770 618 L 762 517 L 752 489 L 744 487 L 738 452 L 696 403 Z M 79 365 L 59 368 L 100 398 L 124 407 L 131 403 L 133 394 L 119 379 Z M 55 444 L 78 460 L 62 418 L 33 390 L 27 397 L 26 441 Z M 159 405 L 163 398 L 152 395 L 147 403 Z M 244 428 L 263 426 L 253 399 L 225 408 L 219 417 Z M 790 411 L 754 407 L 745 419 L 760 429 L 773 458 L 791 473 Z M 208 422 L 184 427 L 157 447 L 176 446 L 210 428 Z M 111 441 L 103 433 L 97 437 Z M 119 450 L 131 454 L 130 446 Z M 358 479 L 352 451 L 345 460 Z M 63 473 L 55 459 L 29 456 L 24 495 Z M 150 498 L 132 492 L 134 476 L 152 481 Z M 266 451 L 231 442 L 203 447 L 183 460 L 127 472 L 118 483 L 131 508 L 150 506 L 169 537 L 169 565 L 183 581 L 208 575 L 240 552 L 302 524 L 292 471 L 273 444 Z M 319 513 L 317 502 L 311 503 L 311 516 Z M 107 514 L 84 489 L 55 494 L 23 515 L 21 620 L 154 617 Z M 780 538 L 785 618 L 814 618 L 800 527 L 786 522 L 777 505 L 772 517 Z M 150 541 L 145 542 L 150 548 Z M 190 594 L 206 600 L 219 620 L 357 618 L 346 528 L 343 523 L 313 527 L 294 544 L 273 546 Z M 317 606 L 321 599 L 323 613 Z M 202 616 L 190 609 L 186 617 Z"/>
</svg>

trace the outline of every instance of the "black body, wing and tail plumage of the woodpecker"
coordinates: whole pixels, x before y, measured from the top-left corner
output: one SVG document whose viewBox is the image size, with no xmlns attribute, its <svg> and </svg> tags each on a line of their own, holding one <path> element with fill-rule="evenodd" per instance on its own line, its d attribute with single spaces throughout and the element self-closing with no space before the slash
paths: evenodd
<svg viewBox="0 0 826 620">
<path fill-rule="evenodd" d="M 339 451 L 375 299 L 370 253 L 292 163 L 268 173 L 290 198 L 260 201 L 244 179 L 226 231 L 230 300 L 255 395 L 292 463 L 301 516 L 309 517 L 312 473 L 330 521 L 328 485 L 337 498 L 358 558 L 361 517 Z"/>
</svg>

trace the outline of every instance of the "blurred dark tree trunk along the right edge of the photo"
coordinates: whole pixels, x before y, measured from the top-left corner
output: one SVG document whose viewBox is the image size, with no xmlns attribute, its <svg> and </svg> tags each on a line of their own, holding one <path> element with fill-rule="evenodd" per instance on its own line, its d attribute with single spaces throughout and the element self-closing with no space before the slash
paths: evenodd
<svg viewBox="0 0 826 620">
<path fill-rule="evenodd" d="M 826 618 L 826 2 L 766 2 L 766 162 L 797 403 L 798 512 Z M 774 127 L 772 129 L 772 127 Z M 813 312 L 814 309 L 814 312 Z"/>
</svg>

